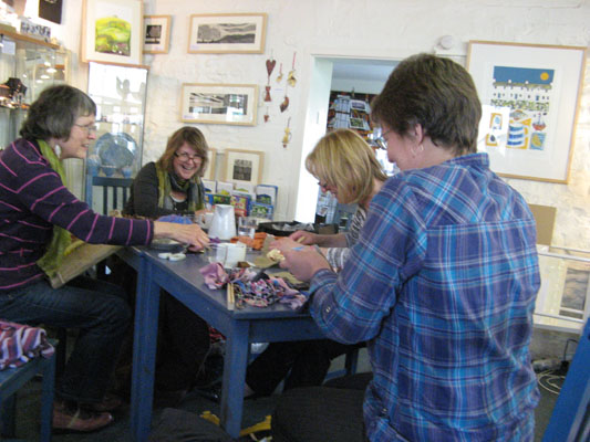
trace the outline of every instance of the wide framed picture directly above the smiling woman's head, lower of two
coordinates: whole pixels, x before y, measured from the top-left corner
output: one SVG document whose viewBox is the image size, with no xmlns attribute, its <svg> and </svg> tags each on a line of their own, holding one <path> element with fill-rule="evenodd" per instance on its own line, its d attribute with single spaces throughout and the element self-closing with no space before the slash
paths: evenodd
<svg viewBox="0 0 590 442">
<path fill-rule="evenodd" d="M 255 84 L 183 84 L 180 120 L 256 125 L 258 86 Z"/>
</svg>

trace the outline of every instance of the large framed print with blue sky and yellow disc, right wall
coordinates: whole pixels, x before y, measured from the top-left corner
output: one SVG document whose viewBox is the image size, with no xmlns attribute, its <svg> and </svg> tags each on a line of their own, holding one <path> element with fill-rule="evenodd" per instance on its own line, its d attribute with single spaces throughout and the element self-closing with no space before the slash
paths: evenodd
<svg viewBox="0 0 590 442">
<path fill-rule="evenodd" d="M 586 48 L 470 41 L 478 150 L 508 178 L 567 183 Z"/>
</svg>

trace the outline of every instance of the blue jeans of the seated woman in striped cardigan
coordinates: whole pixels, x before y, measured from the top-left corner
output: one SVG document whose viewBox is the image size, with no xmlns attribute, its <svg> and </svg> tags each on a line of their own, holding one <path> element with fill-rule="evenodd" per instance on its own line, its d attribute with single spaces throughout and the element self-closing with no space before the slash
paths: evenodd
<svg viewBox="0 0 590 442">
<path fill-rule="evenodd" d="M 21 324 L 79 328 L 56 393 L 83 403 L 100 402 L 131 323 L 125 292 L 80 276 L 60 288 L 46 281 L 0 294 L 0 317 Z"/>
</svg>

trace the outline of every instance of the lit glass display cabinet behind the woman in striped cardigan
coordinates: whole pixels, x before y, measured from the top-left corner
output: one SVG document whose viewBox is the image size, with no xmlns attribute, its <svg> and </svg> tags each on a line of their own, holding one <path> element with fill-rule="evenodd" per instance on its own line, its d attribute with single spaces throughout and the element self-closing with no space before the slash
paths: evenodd
<svg viewBox="0 0 590 442">
<path fill-rule="evenodd" d="M 18 137 L 42 90 L 66 82 L 68 54 L 59 45 L 0 31 L 0 149 Z"/>
</svg>

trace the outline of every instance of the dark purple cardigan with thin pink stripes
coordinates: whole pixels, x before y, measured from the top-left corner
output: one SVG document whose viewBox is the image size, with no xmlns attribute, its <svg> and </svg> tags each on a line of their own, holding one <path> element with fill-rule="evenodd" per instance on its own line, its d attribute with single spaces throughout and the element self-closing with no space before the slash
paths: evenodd
<svg viewBox="0 0 590 442">
<path fill-rule="evenodd" d="M 43 277 L 35 262 L 60 225 L 93 244 L 143 245 L 148 220 L 103 217 L 63 186 L 35 143 L 18 139 L 0 151 L 0 294 Z"/>
</svg>

